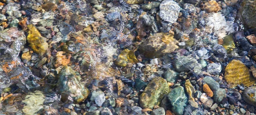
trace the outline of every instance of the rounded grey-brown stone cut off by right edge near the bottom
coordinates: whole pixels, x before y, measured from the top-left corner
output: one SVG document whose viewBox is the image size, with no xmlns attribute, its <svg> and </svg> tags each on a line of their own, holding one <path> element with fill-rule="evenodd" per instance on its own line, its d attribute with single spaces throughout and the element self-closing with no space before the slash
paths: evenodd
<svg viewBox="0 0 256 115">
<path fill-rule="evenodd" d="M 245 89 L 243 92 L 243 99 L 250 105 L 256 106 L 256 86 Z"/>
</svg>

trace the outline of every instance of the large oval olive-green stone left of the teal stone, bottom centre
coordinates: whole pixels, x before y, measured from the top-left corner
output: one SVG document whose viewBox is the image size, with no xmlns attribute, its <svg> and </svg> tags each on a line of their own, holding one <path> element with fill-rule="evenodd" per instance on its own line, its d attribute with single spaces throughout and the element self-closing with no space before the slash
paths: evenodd
<svg viewBox="0 0 256 115">
<path fill-rule="evenodd" d="M 163 97 L 170 92 L 169 85 L 161 77 L 153 78 L 144 92 L 140 95 L 140 106 L 142 108 L 153 109 L 155 105 L 159 105 Z"/>
</svg>

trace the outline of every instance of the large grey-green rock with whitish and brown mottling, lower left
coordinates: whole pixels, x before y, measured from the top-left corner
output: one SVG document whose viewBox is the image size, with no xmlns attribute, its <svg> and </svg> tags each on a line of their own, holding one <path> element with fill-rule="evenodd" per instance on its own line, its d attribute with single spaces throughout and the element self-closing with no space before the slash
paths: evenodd
<svg viewBox="0 0 256 115">
<path fill-rule="evenodd" d="M 81 77 L 70 66 L 64 66 L 55 77 L 52 86 L 61 94 L 61 100 L 72 98 L 76 103 L 84 101 L 90 91 L 81 83 Z"/>
</svg>

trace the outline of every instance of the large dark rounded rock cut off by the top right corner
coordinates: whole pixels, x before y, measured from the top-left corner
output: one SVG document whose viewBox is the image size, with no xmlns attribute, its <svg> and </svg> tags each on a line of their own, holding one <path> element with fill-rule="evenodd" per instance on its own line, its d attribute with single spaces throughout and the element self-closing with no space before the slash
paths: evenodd
<svg viewBox="0 0 256 115">
<path fill-rule="evenodd" d="M 256 27 L 256 1 L 255 0 L 243 0 L 241 3 L 241 9 L 239 15 L 243 24 L 249 28 Z"/>
</svg>

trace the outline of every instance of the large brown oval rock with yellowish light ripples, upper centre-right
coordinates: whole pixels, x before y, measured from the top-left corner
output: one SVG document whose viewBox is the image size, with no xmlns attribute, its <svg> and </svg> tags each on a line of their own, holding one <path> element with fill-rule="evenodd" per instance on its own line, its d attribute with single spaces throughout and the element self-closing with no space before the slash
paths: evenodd
<svg viewBox="0 0 256 115">
<path fill-rule="evenodd" d="M 164 53 L 171 53 L 175 51 L 177 40 L 173 38 L 172 34 L 157 33 L 151 35 L 141 43 L 139 47 L 140 52 L 147 58 L 159 58 Z"/>
</svg>

